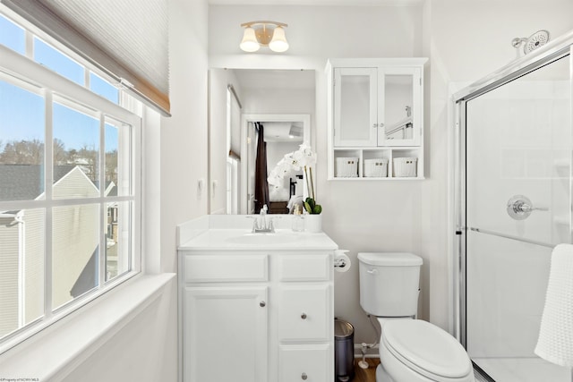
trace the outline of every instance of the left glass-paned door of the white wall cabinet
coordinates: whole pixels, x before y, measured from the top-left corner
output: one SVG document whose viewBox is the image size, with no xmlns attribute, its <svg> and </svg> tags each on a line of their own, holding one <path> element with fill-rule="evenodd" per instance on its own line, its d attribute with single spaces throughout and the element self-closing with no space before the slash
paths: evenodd
<svg viewBox="0 0 573 382">
<path fill-rule="evenodd" d="M 376 146 L 377 69 L 334 69 L 334 146 Z"/>
</svg>

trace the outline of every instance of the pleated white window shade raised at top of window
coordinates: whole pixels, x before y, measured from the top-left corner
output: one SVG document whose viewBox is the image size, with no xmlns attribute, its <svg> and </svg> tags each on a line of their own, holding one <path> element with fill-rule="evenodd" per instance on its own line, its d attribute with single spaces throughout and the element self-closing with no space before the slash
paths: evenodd
<svg viewBox="0 0 573 382">
<path fill-rule="evenodd" d="M 167 0 L 0 0 L 169 115 Z"/>
</svg>

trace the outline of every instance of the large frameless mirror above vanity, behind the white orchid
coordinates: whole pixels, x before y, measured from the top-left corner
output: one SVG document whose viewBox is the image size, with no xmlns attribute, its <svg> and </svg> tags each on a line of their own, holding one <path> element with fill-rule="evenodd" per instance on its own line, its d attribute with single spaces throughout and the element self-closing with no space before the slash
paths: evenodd
<svg viewBox="0 0 573 382">
<path fill-rule="evenodd" d="M 209 81 L 210 214 L 255 213 L 258 128 L 267 174 L 285 154 L 310 145 L 315 71 L 211 68 Z M 286 174 L 282 187 L 269 188 L 269 213 L 288 213 L 303 192 L 302 176 Z"/>
</svg>

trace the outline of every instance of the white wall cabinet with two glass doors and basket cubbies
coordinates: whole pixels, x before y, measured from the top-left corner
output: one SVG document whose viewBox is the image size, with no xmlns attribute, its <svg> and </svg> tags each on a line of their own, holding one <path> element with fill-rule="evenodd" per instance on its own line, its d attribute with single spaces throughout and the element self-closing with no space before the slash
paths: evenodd
<svg viewBox="0 0 573 382">
<path fill-rule="evenodd" d="M 426 61 L 329 60 L 329 180 L 423 179 Z"/>
</svg>

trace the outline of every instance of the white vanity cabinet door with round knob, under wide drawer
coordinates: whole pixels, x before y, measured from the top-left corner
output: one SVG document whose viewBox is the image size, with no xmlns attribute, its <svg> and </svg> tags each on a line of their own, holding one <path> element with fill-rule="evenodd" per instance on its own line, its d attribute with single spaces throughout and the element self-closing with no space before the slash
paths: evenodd
<svg viewBox="0 0 573 382">
<path fill-rule="evenodd" d="M 266 382 L 267 287 L 186 287 L 184 381 Z"/>
</svg>

